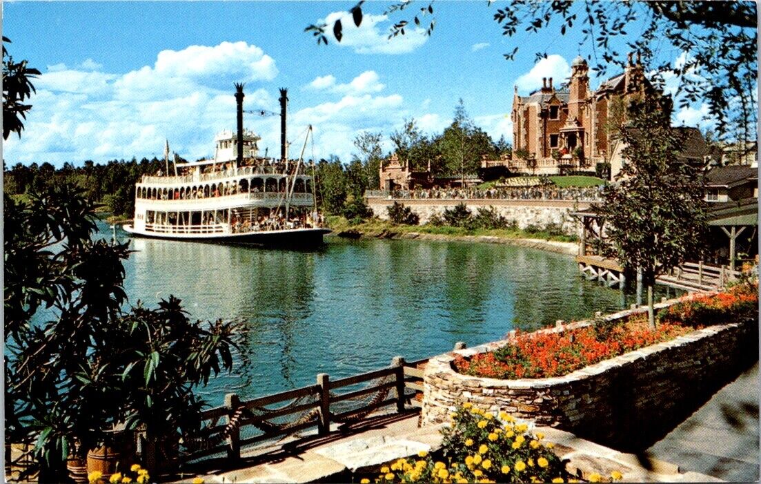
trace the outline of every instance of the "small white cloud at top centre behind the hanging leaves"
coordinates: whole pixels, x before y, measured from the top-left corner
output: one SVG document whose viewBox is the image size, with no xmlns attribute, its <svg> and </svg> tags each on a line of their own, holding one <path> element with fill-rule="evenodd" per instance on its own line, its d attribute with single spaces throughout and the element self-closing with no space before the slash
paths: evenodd
<svg viewBox="0 0 761 484">
<path fill-rule="evenodd" d="M 428 36 L 425 29 L 410 27 L 404 35 L 388 38 L 392 23 L 386 15 L 365 14 L 362 23 L 356 27 L 348 12 L 339 11 L 329 14 L 319 23 L 327 24 L 332 29 L 336 20 L 341 20 L 343 37 L 338 46 L 351 47 L 358 54 L 404 54 L 422 46 Z M 332 31 L 332 30 L 331 30 Z"/>
</svg>

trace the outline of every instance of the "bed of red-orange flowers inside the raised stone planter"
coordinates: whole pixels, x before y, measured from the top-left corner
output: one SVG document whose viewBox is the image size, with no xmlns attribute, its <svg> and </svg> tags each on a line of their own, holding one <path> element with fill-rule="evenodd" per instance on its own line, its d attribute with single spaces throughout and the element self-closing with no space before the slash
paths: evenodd
<svg viewBox="0 0 761 484">
<path fill-rule="evenodd" d="M 648 328 L 644 314 L 623 320 L 595 321 L 562 332 L 518 334 L 493 352 L 472 358 L 458 355 L 454 368 L 477 377 L 517 379 L 559 377 L 635 349 L 683 336 L 705 324 L 757 318 L 758 284 L 742 284 L 715 295 L 700 295 L 673 304 L 658 314 L 661 323 Z"/>
</svg>

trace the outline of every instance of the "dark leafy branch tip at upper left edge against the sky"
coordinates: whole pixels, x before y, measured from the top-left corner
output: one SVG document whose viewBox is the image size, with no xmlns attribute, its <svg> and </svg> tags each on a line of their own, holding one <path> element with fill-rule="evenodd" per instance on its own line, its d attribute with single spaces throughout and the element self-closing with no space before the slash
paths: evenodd
<svg viewBox="0 0 761 484">
<path fill-rule="evenodd" d="M 24 101 L 37 92 L 31 80 L 40 75 L 40 71 L 27 67 L 25 60 L 14 62 L 5 49 L 5 43 L 11 43 L 11 40 L 3 36 L 2 41 L 2 138 L 8 139 L 11 132 L 21 138 L 24 130 L 21 119 L 27 119 L 27 111 L 32 109 L 32 105 Z"/>
</svg>

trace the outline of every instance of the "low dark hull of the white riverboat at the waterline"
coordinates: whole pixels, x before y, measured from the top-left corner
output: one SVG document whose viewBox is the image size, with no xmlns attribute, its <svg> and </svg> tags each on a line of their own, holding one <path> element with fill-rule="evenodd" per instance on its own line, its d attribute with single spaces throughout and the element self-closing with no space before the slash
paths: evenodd
<svg viewBox="0 0 761 484">
<path fill-rule="evenodd" d="M 184 240 L 187 242 L 205 242 L 211 244 L 245 244 L 263 247 L 317 247 L 323 244 L 323 235 L 330 233 L 330 229 L 327 228 L 252 231 L 244 234 L 183 234 L 178 232 L 135 231 L 131 225 L 124 225 L 122 228 L 134 237 Z"/>
</svg>

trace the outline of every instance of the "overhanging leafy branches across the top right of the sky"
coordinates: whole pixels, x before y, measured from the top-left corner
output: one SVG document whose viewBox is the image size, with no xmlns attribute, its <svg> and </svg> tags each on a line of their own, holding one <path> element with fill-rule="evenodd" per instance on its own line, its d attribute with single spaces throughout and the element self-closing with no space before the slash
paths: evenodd
<svg viewBox="0 0 761 484">
<path fill-rule="evenodd" d="M 396 17 L 389 38 L 404 35 L 405 28 L 412 24 L 415 25 L 412 28 L 422 29 L 425 22 L 428 23 L 425 33 L 433 32 L 435 17 L 431 3 L 423 3 L 419 9 L 409 8 L 411 4 L 400 0 L 384 11 L 385 15 Z M 359 2 L 350 11 L 357 26 L 363 18 L 362 5 L 363 2 Z M 704 101 L 722 139 L 745 146 L 746 142 L 756 139 L 756 14 L 756 3 L 748 1 L 525 0 L 498 8 L 493 17 L 501 25 L 503 35 L 508 37 L 524 31 L 538 33 L 551 26 L 558 29 L 560 36 L 574 31 L 580 37 L 579 46 L 590 52 L 587 58 L 594 59 L 592 69 L 598 72 L 598 77 L 611 67 L 625 65 L 626 52 L 618 53 L 610 46 L 616 37 L 631 36 L 626 44 L 629 50 L 642 54 L 645 65 L 654 65 L 664 48 L 663 40 L 667 40 L 686 53 L 686 59 L 681 65 L 662 62 L 655 66 L 657 84 L 662 84 L 666 77 L 676 76 L 679 92 L 684 94 L 682 105 Z M 310 25 L 305 30 L 317 37 L 317 43 L 327 44 L 325 30 L 328 27 Z M 334 37 L 340 42 L 340 19 L 332 27 Z M 517 52 L 516 46 L 505 53 L 505 59 L 514 60 Z M 537 59 L 547 56 L 546 53 L 536 55 Z"/>
</svg>

